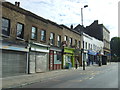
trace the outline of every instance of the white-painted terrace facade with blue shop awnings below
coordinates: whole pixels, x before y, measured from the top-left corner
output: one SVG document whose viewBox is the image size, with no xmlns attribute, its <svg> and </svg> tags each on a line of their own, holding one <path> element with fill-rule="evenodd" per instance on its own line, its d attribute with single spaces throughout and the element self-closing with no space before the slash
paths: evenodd
<svg viewBox="0 0 120 90">
<path fill-rule="evenodd" d="M 104 43 L 94 37 L 82 33 L 82 61 L 87 65 L 98 63 L 101 58 L 98 55 L 103 54 Z"/>
</svg>

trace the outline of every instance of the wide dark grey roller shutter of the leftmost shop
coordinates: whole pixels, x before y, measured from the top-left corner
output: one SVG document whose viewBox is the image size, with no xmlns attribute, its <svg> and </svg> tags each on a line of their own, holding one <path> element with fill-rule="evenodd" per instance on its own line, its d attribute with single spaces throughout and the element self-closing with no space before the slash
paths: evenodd
<svg viewBox="0 0 120 90">
<path fill-rule="evenodd" d="M 26 73 L 27 53 L 2 50 L 2 76 L 14 76 Z"/>
</svg>

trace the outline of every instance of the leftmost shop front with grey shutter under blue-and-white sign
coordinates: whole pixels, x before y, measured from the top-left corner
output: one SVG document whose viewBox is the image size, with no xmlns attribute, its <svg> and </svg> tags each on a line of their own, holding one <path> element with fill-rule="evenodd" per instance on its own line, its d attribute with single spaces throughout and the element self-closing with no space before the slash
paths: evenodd
<svg viewBox="0 0 120 90">
<path fill-rule="evenodd" d="M 16 76 L 28 72 L 28 52 L 26 43 L 2 41 L 2 77 Z"/>
</svg>

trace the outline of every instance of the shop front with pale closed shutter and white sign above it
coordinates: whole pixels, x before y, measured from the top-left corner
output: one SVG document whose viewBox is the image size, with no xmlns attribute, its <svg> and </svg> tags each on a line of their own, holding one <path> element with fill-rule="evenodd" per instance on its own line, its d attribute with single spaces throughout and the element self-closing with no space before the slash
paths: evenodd
<svg viewBox="0 0 120 90">
<path fill-rule="evenodd" d="M 49 46 L 30 43 L 29 47 L 29 73 L 48 71 Z"/>
</svg>

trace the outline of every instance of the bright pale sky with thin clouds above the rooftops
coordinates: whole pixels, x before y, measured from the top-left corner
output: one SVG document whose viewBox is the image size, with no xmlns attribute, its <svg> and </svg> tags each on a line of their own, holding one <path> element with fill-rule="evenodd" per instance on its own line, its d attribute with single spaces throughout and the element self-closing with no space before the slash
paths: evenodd
<svg viewBox="0 0 120 90">
<path fill-rule="evenodd" d="M 110 38 L 118 36 L 118 2 L 120 0 L 6 0 L 14 4 L 20 1 L 20 7 L 31 11 L 57 24 L 73 27 L 81 24 L 89 26 L 98 20 L 110 31 Z M 84 8 L 84 5 L 88 5 Z"/>
</svg>

